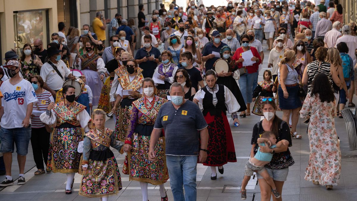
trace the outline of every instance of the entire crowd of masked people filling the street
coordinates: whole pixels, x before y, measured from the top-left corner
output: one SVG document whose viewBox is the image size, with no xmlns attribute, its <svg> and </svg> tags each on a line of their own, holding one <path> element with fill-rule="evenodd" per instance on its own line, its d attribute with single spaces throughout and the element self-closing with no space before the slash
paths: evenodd
<svg viewBox="0 0 357 201">
<path fill-rule="evenodd" d="M 208 7 L 190 1 L 186 9 L 172 2 L 168 10 L 160 4 L 149 19 L 139 5 L 137 25 L 99 11 L 81 35 L 72 26 L 64 34 L 60 22 L 47 49 L 37 39 L 20 56 L 6 52 L 0 68 L 0 174 L 6 177 L 0 186 L 14 184 L 14 144 L 17 184 L 25 184 L 31 141 L 35 175 L 65 173 L 70 194 L 79 172 L 79 194 L 107 201 L 122 188 L 111 146 L 126 152 L 121 171 L 140 182 L 143 201 L 148 183 L 159 185 L 167 201 L 169 178 L 175 178 L 174 200 L 196 200 L 197 163 L 210 166 L 216 180 L 217 169 L 223 174 L 225 164 L 237 162 L 228 111 L 234 126 L 251 113 L 264 117 L 252 126 L 242 200 L 253 172 L 261 200 L 282 200 L 294 164 L 288 147 L 303 137 L 299 116 L 309 123 L 305 180 L 332 189 L 341 174 L 334 118 L 343 118 L 347 100 L 355 107 L 356 23 L 344 24 L 338 0 L 234 2 Z M 258 82 L 264 40 L 269 69 Z M 114 130 L 105 127 L 106 118 L 115 119 Z"/>
</svg>

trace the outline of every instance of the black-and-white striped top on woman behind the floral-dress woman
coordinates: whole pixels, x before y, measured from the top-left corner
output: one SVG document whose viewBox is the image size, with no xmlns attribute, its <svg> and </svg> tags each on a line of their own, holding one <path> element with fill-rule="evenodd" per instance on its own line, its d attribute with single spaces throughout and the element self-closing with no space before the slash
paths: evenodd
<svg viewBox="0 0 357 201">
<path fill-rule="evenodd" d="M 326 74 L 328 77 L 328 80 L 331 83 L 331 87 L 333 84 L 332 81 L 332 75 L 331 75 L 331 64 L 328 62 L 321 62 L 320 68 L 319 68 L 319 63 L 320 61 L 316 60 L 313 61 L 309 64 L 307 64 L 306 68 L 307 68 L 307 92 L 310 93 L 312 90 L 312 81 L 315 78 L 315 76 L 318 73 L 323 73 Z"/>
</svg>

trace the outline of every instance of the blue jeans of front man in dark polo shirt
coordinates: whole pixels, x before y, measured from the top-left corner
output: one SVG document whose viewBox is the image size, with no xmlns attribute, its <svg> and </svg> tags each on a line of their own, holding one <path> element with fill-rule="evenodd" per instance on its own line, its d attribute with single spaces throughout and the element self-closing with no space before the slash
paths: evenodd
<svg viewBox="0 0 357 201">
<path fill-rule="evenodd" d="M 166 155 L 166 165 L 174 201 L 195 201 L 197 156 Z M 183 196 L 182 185 L 185 188 L 185 196 Z"/>
</svg>

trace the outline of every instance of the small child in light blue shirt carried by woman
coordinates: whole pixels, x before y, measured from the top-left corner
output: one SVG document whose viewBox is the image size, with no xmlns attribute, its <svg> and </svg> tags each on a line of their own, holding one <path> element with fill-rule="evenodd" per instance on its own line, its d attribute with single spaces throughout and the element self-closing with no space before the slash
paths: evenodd
<svg viewBox="0 0 357 201">
<path fill-rule="evenodd" d="M 265 146 L 265 143 L 267 143 L 270 148 L 281 147 L 282 144 L 284 144 L 285 146 L 289 145 L 289 142 L 285 139 L 276 143 L 275 134 L 271 131 L 263 132 L 261 134 L 261 137 L 257 139 L 257 142 L 261 146 Z M 264 168 L 265 165 L 270 163 L 272 157 L 273 157 L 273 153 L 263 153 L 260 151 L 260 148 L 258 148 L 258 152 L 256 153 L 256 155 L 247 161 L 244 170 L 244 178 L 241 186 L 242 200 L 245 200 L 247 198 L 246 186 L 248 184 L 248 181 L 250 180 L 250 177 L 253 175 L 254 171 L 256 171 L 258 174 L 264 177 L 267 183 L 271 186 L 272 188 L 271 191 L 273 192 L 276 198 L 279 198 L 281 196 L 280 193 L 277 191 L 273 179 L 270 177 L 269 173 Z"/>
</svg>

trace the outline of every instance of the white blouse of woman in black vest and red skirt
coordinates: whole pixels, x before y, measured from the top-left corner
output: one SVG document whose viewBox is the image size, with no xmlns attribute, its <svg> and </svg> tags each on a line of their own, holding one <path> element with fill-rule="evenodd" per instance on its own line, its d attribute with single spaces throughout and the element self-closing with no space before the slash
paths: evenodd
<svg viewBox="0 0 357 201">
<path fill-rule="evenodd" d="M 207 86 L 206 86 L 207 87 Z M 236 98 L 234 97 L 234 95 L 232 94 L 232 92 L 226 87 L 224 87 L 224 96 L 225 96 L 225 104 L 226 107 L 228 109 L 228 113 L 235 113 L 237 112 L 241 106 L 238 104 Z M 209 89 L 207 87 L 207 89 Z M 208 90 L 211 94 L 213 94 L 213 99 L 212 99 L 212 103 L 214 103 L 214 100 L 217 99 L 216 97 L 216 93 L 219 90 L 219 86 L 217 85 L 217 89 L 215 89 L 214 92 L 211 92 L 210 90 Z M 194 99 L 196 98 L 197 100 L 199 100 L 198 102 L 198 107 L 200 107 L 201 110 L 203 110 L 203 98 L 205 97 L 205 92 L 202 91 L 202 89 L 198 90 L 198 92 L 196 92 L 195 97 L 193 97 Z M 217 104 L 217 102 L 216 102 Z"/>
</svg>

